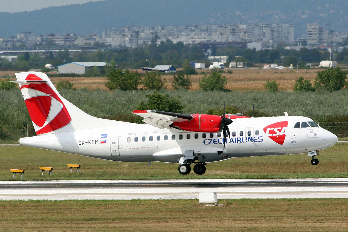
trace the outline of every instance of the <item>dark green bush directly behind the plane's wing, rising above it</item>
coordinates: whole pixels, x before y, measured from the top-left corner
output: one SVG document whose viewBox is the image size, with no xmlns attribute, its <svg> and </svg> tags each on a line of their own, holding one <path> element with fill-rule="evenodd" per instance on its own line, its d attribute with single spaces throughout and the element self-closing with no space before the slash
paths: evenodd
<svg viewBox="0 0 348 232">
<path fill-rule="evenodd" d="M 181 96 L 171 97 L 169 94 L 160 94 L 155 91 L 153 94 L 145 96 L 148 101 L 141 101 L 136 106 L 137 110 L 160 110 L 174 113 L 182 113 L 185 104 L 181 101 Z"/>
</svg>

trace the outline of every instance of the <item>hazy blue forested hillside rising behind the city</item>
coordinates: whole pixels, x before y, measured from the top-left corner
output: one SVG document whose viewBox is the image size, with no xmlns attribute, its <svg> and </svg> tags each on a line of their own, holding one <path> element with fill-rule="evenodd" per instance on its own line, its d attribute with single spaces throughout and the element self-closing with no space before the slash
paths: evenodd
<svg viewBox="0 0 348 232">
<path fill-rule="evenodd" d="M 30 12 L 0 12 L 0 37 L 29 31 L 40 34 L 102 33 L 105 29 L 145 25 L 234 23 L 294 23 L 295 35 L 306 32 L 307 23 L 331 23 L 347 31 L 347 1 L 322 0 L 264 2 L 253 0 L 105 0 Z"/>
</svg>

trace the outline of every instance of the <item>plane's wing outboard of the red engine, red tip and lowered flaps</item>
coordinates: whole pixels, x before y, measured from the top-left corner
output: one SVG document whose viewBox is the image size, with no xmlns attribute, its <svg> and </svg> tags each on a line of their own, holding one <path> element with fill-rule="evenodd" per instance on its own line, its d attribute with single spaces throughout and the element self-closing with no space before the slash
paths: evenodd
<svg viewBox="0 0 348 232">
<path fill-rule="evenodd" d="M 133 113 L 143 117 L 143 122 L 160 129 L 171 129 L 170 125 L 172 125 L 173 122 L 183 122 L 193 119 L 191 114 L 180 114 L 159 110 L 134 110 Z"/>
</svg>

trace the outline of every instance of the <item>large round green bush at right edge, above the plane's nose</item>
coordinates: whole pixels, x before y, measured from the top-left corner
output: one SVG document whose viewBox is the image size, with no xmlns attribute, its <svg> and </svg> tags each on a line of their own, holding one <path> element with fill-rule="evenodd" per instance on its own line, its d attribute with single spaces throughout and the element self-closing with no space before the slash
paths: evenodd
<svg viewBox="0 0 348 232">
<path fill-rule="evenodd" d="M 340 90 L 346 85 L 346 78 L 347 74 L 341 71 L 339 67 L 330 67 L 317 73 L 314 86 L 316 89 Z"/>
</svg>

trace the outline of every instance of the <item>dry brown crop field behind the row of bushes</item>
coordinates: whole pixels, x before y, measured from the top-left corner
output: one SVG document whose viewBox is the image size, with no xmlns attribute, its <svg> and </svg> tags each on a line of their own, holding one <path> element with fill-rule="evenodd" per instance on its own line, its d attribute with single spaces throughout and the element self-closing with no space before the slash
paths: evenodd
<svg viewBox="0 0 348 232">
<path fill-rule="evenodd" d="M 266 81 L 277 81 L 279 83 L 279 90 L 292 91 L 295 84 L 295 80 L 299 77 L 308 79 L 311 83 L 314 83 L 316 78 L 316 72 L 321 70 L 274 70 L 274 69 L 225 69 L 225 71 L 231 70 L 233 73 L 223 73 L 227 78 L 226 88 L 230 90 L 252 90 L 252 91 L 264 91 L 264 84 Z M 209 72 L 208 69 L 201 70 Z M 0 72 L 0 77 L 4 75 L 14 75 L 15 71 Z M 204 74 L 191 75 L 192 86 L 191 90 L 199 89 L 199 80 Z M 173 81 L 172 75 L 163 75 L 166 79 L 167 89 L 171 89 L 171 82 Z M 90 90 L 95 89 L 107 89 L 105 87 L 105 77 L 55 77 L 51 78 L 52 81 L 58 82 L 61 80 L 69 80 L 74 88 L 86 88 Z"/>
</svg>

